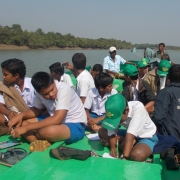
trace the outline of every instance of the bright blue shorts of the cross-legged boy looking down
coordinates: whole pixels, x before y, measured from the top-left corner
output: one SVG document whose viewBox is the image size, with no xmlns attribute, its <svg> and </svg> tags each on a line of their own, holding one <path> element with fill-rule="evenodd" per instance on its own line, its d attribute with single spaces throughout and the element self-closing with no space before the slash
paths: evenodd
<svg viewBox="0 0 180 180">
<path fill-rule="evenodd" d="M 75 143 L 85 136 L 85 124 L 83 123 L 63 123 L 65 124 L 71 132 L 71 136 L 65 142 L 66 144 Z"/>
</svg>

